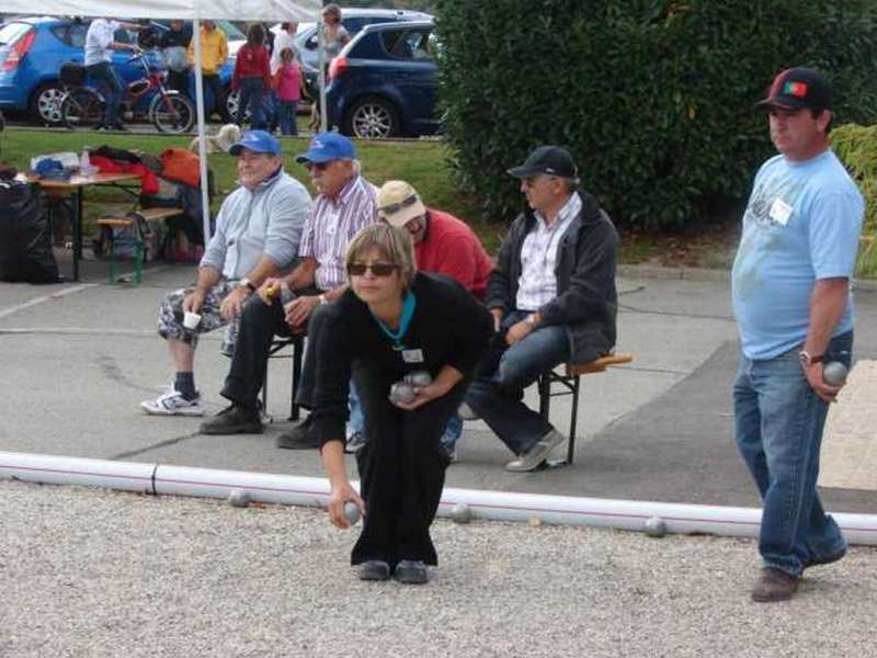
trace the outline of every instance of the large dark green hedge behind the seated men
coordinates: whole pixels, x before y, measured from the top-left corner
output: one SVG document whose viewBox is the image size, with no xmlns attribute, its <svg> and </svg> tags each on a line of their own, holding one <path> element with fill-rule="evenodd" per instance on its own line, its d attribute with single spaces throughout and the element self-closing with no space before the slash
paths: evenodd
<svg viewBox="0 0 877 658">
<path fill-rule="evenodd" d="M 562 144 L 613 217 L 704 222 L 773 152 L 753 110 L 774 73 L 832 78 L 838 121 L 877 118 L 877 21 L 852 0 L 437 0 L 453 164 L 486 215 L 521 195 L 505 169 Z"/>
</svg>

